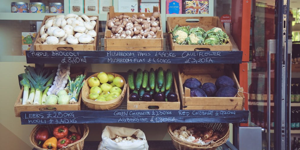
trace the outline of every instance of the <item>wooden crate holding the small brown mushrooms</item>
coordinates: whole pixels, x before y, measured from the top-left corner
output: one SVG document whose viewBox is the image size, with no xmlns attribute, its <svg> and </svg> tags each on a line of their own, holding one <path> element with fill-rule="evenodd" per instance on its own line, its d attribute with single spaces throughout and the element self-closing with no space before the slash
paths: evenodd
<svg viewBox="0 0 300 150">
<path fill-rule="evenodd" d="M 158 7 L 154 7 L 154 12 L 158 12 Z M 115 16 L 119 16 L 121 14 L 126 14 L 128 16 L 132 16 L 136 14 L 139 16 L 140 14 L 144 14 L 145 16 L 152 16 L 152 13 L 117 13 L 114 12 L 114 7 L 110 6 L 110 12 L 107 13 L 107 21 Z M 117 39 L 110 38 L 111 30 L 108 27 L 105 27 L 105 35 L 104 35 L 104 50 L 113 50 L 113 51 L 125 51 L 125 50 L 150 50 L 150 51 L 161 51 L 163 50 L 164 45 L 164 36 L 163 36 L 163 27 L 161 25 L 161 16 L 159 16 L 160 21 L 160 30 L 157 31 L 156 38 L 144 38 L 144 39 Z M 100 43 L 99 43 L 100 44 Z"/>
</svg>

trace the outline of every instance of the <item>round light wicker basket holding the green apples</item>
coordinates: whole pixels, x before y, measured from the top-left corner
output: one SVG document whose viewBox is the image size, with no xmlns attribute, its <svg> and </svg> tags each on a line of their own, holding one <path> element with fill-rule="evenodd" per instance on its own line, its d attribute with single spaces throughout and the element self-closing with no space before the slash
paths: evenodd
<svg viewBox="0 0 300 150">
<path fill-rule="evenodd" d="M 109 72 L 107 72 L 109 73 Z M 86 80 L 85 83 L 81 89 L 81 93 L 82 93 L 82 101 L 83 104 L 85 104 L 85 106 L 87 106 L 89 109 L 93 109 L 93 110 L 112 110 L 115 109 L 117 107 L 119 107 L 122 104 L 122 101 L 125 98 L 125 91 L 126 91 L 126 81 L 124 79 L 123 76 L 117 74 L 117 73 L 111 73 L 112 75 L 114 75 L 115 77 L 119 76 L 123 79 L 124 81 L 124 86 L 122 89 L 122 93 L 120 94 L 119 97 L 117 97 L 114 100 L 111 101 L 93 101 L 91 99 L 88 99 L 88 94 L 90 93 L 90 87 L 88 86 L 88 79 L 90 79 L 92 76 L 97 77 L 98 73 L 95 73 L 91 76 L 89 76 Z"/>
</svg>

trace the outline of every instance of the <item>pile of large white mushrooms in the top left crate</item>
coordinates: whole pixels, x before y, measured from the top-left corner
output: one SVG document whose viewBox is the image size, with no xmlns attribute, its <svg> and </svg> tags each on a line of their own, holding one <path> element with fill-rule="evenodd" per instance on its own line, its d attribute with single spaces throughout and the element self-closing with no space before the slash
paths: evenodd
<svg viewBox="0 0 300 150">
<path fill-rule="evenodd" d="M 40 44 L 91 44 L 97 36 L 95 31 L 98 17 L 78 16 L 74 13 L 48 18 L 40 29 Z"/>
</svg>

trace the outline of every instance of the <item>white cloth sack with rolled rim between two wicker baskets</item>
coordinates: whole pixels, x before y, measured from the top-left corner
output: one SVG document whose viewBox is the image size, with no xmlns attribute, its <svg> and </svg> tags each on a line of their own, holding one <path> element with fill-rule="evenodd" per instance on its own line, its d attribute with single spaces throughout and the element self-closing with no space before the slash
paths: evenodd
<svg viewBox="0 0 300 150">
<path fill-rule="evenodd" d="M 137 138 L 143 140 L 136 140 L 134 142 L 119 142 L 116 143 L 112 139 L 116 139 L 117 136 L 128 137 L 135 135 Z M 140 129 L 132 129 L 125 127 L 112 127 L 106 126 L 102 131 L 102 141 L 98 146 L 98 150 L 148 150 L 149 146 L 146 140 L 146 136 Z"/>
</svg>

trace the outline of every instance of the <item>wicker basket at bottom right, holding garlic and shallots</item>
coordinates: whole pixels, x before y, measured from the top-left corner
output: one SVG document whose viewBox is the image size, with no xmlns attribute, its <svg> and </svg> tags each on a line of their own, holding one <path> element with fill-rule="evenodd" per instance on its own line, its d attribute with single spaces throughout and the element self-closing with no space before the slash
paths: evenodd
<svg viewBox="0 0 300 150">
<path fill-rule="evenodd" d="M 191 143 L 184 140 L 179 139 L 173 134 L 175 129 L 179 129 L 182 126 L 190 127 L 206 127 L 212 128 L 213 131 L 218 130 L 220 131 L 221 135 L 225 135 L 220 140 L 215 142 L 211 142 L 208 145 L 199 145 L 198 143 Z M 227 123 L 170 123 L 168 124 L 168 132 L 171 136 L 173 145 L 178 150 L 215 150 L 220 145 L 226 143 L 229 138 L 229 125 Z"/>
</svg>

